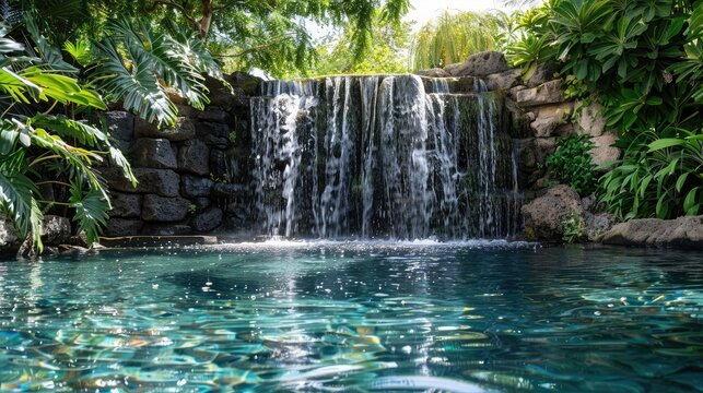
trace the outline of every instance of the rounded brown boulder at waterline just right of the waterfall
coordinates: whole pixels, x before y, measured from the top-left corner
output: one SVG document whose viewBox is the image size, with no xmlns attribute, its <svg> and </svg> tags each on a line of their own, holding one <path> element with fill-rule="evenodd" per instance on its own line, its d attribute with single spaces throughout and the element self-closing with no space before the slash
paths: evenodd
<svg viewBox="0 0 703 393">
<path fill-rule="evenodd" d="M 522 212 L 528 240 L 561 241 L 564 233 L 562 223 L 574 212 L 581 216 L 583 206 L 573 188 L 559 184 L 524 205 Z"/>
</svg>

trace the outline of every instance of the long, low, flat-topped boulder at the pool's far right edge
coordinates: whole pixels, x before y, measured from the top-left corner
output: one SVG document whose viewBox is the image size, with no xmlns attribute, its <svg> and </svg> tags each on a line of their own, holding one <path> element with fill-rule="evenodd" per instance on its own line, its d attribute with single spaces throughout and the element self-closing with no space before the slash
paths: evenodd
<svg viewBox="0 0 703 393">
<path fill-rule="evenodd" d="M 632 219 L 613 226 L 606 245 L 703 250 L 703 215 L 676 219 Z"/>
</svg>

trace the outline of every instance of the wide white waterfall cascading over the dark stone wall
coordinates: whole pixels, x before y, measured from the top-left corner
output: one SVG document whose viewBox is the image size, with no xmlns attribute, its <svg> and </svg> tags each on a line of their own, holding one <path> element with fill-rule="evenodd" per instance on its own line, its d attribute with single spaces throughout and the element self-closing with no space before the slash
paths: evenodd
<svg viewBox="0 0 703 393">
<path fill-rule="evenodd" d="M 505 237 L 520 195 L 500 97 L 417 75 L 263 82 L 251 98 L 265 235 Z"/>
</svg>

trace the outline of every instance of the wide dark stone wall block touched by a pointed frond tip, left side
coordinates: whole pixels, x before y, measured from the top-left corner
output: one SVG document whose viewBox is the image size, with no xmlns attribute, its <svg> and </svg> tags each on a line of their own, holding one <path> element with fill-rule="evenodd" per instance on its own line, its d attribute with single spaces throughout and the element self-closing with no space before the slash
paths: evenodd
<svg viewBox="0 0 703 393">
<path fill-rule="evenodd" d="M 122 192 L 155 193 L 162 196 L 177 196 L 180 177 L 171 169 L 134 168 L 139 181 L 137 187 L 125 178 L 118 168 L 102 168 L 101 172 L 113 190 Z"/>
</svg>

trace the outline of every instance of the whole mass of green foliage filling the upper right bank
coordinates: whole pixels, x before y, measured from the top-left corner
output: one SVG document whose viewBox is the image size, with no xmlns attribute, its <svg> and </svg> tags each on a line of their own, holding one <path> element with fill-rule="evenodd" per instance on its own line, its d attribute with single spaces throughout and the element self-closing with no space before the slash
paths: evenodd
<svg viewBox="0 0 703 393">
<path fill-rule="evenodd" d="M 692 206 L 703 200 L 703 172 L 695 165 L 703 1 L 550 0 L 526 12 L 519 25 L 522 38 L 508 45 L 508 59 L 528 75 L 538 62 L 558 63 L 574 86 L 588 87 L 577 91 L 594 93 L 608 126 L 620 133 L 624 157 L 601 179 L 607 207 L 623 218 L 695 214 Z M 689 142 L 651 148 L 669 138 Z M 665 171 L 663 159 L 671 159 Z"/>
</svg>

